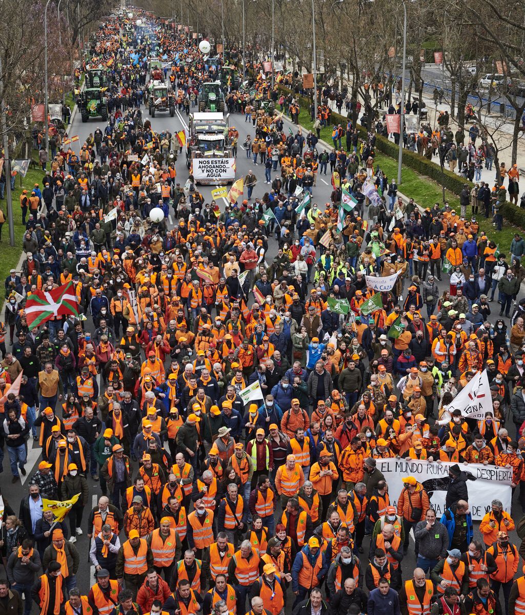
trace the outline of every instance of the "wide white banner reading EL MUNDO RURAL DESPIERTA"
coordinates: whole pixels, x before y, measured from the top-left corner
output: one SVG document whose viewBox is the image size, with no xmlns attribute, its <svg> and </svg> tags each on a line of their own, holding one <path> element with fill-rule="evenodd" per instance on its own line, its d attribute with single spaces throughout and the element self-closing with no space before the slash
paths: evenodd
<svg viewBox="0 0 525 615">
<path fill-rule="evenodd" d="M 383 472 L 388 483 L 391 506 L 397 506 L 397 499 L 403 489 L 403 478 L 413 476 L 429 494 L 430 506 L 436 510 L 437 518 L 445 512 L 446 490 L 450 483 L 448 469 L 450 462 L 420 461 L 419 459 L 376 459 L 377 469 Z M 481 521 L 491 510 L 491 501 L 502 501 L 504 510 L 510 513 L 512 468 L 483 466 L 469 463 L 460 465 L 476 480 L 467 480 L 469 510 L 474 521 Z"/>
</svg>

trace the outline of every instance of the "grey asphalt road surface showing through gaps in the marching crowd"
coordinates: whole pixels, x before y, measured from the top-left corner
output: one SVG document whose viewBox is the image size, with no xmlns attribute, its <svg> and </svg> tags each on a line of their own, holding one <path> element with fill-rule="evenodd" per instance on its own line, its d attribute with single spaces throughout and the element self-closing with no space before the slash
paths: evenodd
<svg viewBox="0 0 525 615">
<path fill-rule="evenodd" d="M 144 115 L 144 119 L 146 119 L 146 117 L 149 117 L 147 114 L 147 110 L 144 107 L 142 108 L 142 113 Z M 184 114 L 182 114 L 181 116 L 180 114 L 177 113 L 176 117 L 173 117 L 173 118 L 169 117 L 168 113 L 161 114 L 161 115 L 158 114 L 157 116 L 155 116 L 154 119 L 152 119 L 152 127 L 155 131 L 158 131 L 158 132 L 160 132 L 161 130 L 169 130 L 172 133 L 176 133 L 178 130 L 181 130 L 182 128 L 187 129 L 187 121 L 188 121 L 188 118 Z M 239 131 L 239 144 L 242 144 L 244 142 L 244 139 L 246 138 L 247 134 L 251 134 L 252 137 L 254 136 L 253 126 L 251 125 L 251 123 L 245 122 L 243 116 L 239 116 L 239 115 L 231 116 L 230 125 L 232 124 L 235 125 Z M 287 132 L 288 125 L 290 124 L 288 121 L 286 121 L 286 126 L 285 126 L 286 132 Z M 97 127 L 104 129 L 103 122 L 96 121 L 96 120 L 93 120 L 93 121 L 90 120 L 86 124 L 83 124 L 80 119 L 80 115 L 76 114 L 71 130 L 69 131 L 69 136 L 72 136 L 72 135 L 79 136 L 79 141 L 75 144 L 77 151 L 79 151 L 80 146 L 82 145 L 84 140 L 88 137 L 89 133 L 94 132 Z M 177 181 L 179 181 L 181 185 L 184 186 L 184 183 L 187 180 L 187 177 L 189 175 L 189 172 L 185 167 L 184 155 L 179 156 L 179 160 L 177 161 L 176 168 L 177 168 Z M 267 191 L 268 188 L 270 188 L 270 186 L 264 183 L 264 169 L 262 165 L 260 164 L 254 165 L 251 159 L 248 159 L 246 157 L 245 151 L 243 151 L 243 149 L 239 145 L 239 153 L 238 153 L 238 159 L 237 159 L 237 177 L 246 175 L 246 173 L 250 169 L 252 169 L 255 172 L 255 175 L 257 175 L 257 178 L 259 179 L 257 185 L 255 186 L 252 199 L 255 199 L 255 197 L 262 197 L 264 192 Z M 272 177 L 273 175 L 274 173 L 272 174 Z M 205 199 L 207 199 L 208 201 L 211 200 L 210 191 L 212 188 L 213 187 L 210 187 L 210 186 L 200 186 L 199 188 L 200 191 L 203 193 Z M 320 207 L 323 207 L 325 202 L 329 201 L 331 191 L 332 191 L 332 188 L 330 186 L 330 176 L 327 175 L 327 176 L 319 177 L 317 180 L 317 186 L 316 188 L 313 189 L 313 202 L 316 202 L 317 204 L 319 204 Z M 221 203 L 220 207 L 223 208 L 224 204 Z M 173 220 L 169 220 L 169 227 L 171 228 L 171 226 L 173 226 Z M 507 250 L 507 247 L 505 247 L 504 249 Z M 274 239 L 271 239 L 269 256 L 272 257 L 275 253 L 276 253 L 276 242 Z M 443 280 L 445 280 L 445 277 L 443 278 Z M 447 284 L 445 283 L 445 281 L 441 282 L 440 291 L 448 287 Z M 496 310 L 497 304 L 496 303 L 492 304 L 492 307 L 493 307 L 493 311 Z M 7 454 L 6 454 L 6 459 L 4 459 L 4 472 L 0 477 L 0 486 L 2 487 L 2 494 L 4 495 L 4 498 L 6 498 L 10 502 L 11 506 L 15 509 L 15 512 L 18 512 L 18 507 L 20 505 L 20 499 L 26 496 L 28 493 L 27 483 L 28 483 L 29 476 L 33 474 L 33 472 L 36 471 L 37 469 L 36 466 L 37 466 L 37 462 L 39 461 L 40 448 L 37 445 L 35 445 L 34 448 L 33 446 L 34 446 L 34 443 L 32 440 L 30 440 L 29 441 L 28 464 L 26 466 L 28 475 L 27 477 L 21 477 L 21 482 L 16 483 L 15 485 L 11 484 L 9 458 L 7 458 Z M 137 470 L 136 467 L 135 467 L 135 470 Z M 91 566 L 88 565 L 89 539 L 86 536 L 87 516 L 88 516 L 90 507 L 95 506 L 96 502 L 98 501 L 99 496 L 101 495 L 100 486 L 98 482 L 94 482 L 93 480 L 91 480 L 91 478 L 88 478 L 88 485 L 90 487 L 90 499 L 88 502 L 88 506 L 86 507 L 86 511 L 84 515 L 85 518 L 84 518 L 84 522 L 82 525 L 84 534 L 82 536 L 79 536 L 76 542 L 76 547 L 77 549 L 79 549 L 79 552 L 80 552 L 80 569 L 79 569 L 79 573 L 77 574 L 77 581 L 78 581 L 80 590 L 82 590 L 82 593 L 87 593 L 89 587 L 94 582 L 93 569 L 91 568 Z M 519 506 L 518 507 L 515 506 L 513 510 L 513 512 L 515 512 L 516 523 L 519 520 L 519 518 L 521 518 L 521 512 L 518 510 L 518 508 Z M 280 517 L 280 514 L 279 514 L 279 517 Z M 515 534 L 513 535 L 513 538 L 515 539 L 515 541 L 518 541 Z M 365 542 L 364 542 L 365 555 L 362 556 L 362 558 L 364 559 L 366 559 L 366 555 L 368 554 L 368 542 L 369 542 L 369 539 L 365 538 Z M 364 561 L 364 565 L 366 565 L 366 561 Z M 402 566 L 403 566 L 403 571 L 404 571 L 403 577 L 406 578 L 406 575 L 410 575 L 411 571 L 413 570 L 415 566 L 413 549 L 410 549 L 409 554 L 403 560 Z"/>
</svg>

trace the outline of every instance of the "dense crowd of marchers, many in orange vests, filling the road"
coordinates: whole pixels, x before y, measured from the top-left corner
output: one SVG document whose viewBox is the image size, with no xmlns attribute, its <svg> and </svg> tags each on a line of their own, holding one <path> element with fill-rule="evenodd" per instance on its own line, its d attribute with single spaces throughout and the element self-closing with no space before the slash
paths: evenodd
<svg viewBox="0 0 525 615">
<path fill-rule="evenodd" d="M 184 57 L 171 81 L 193 93 L 208 76 L 198 47 L 147 18 L 155 49 Z M 285 135 L 282 113 L 243 95 L 247 156 L 278 174 L 262 198 L 216 213 L 192 177 L 177 182 L 172 135 L 142 119 L 153 39 L 122 46 L 123 20 L 107 20 L 92 49 L 126 90 L 111 89 L 107 126 L 79 156 L 59 136 L 42 191 L 20 199 L 0 450 L 13 483 L 31 436 L 42 461 L 18 515 L 4 491 L 0 615 L 33 602 L 41 615 L 524 613 L 525 547 L 511 533 L 525 528 L 488 494 L 475 535 L 468 470 L 511 468 L 525 511 L 523 239 L 507 259 L 466 212 L 398 200 L 374 170 L 373 137 L 352 132 L 332 161 L 313 133 Z M 255 90 L 271 97 L 261 79 Z M 312 188 L 328 162 L 339 182 L 321 208 Z M 382 205 L 364 194 L 370 177 Z M 338 226 L 345 192 L 356 205 Z M 173 228 L 152 221 L 156 207 L 173 208 Z M 366 276 L 392 274 L 367 308 Z M 28 326 L 31 293 L 69 282 L 85 319 Z M 449 410 L 482 370 L 492 411 Z M 389 494 L 376 467 L 387 458 L 447 463 L 444 512 L 413 475 Z M 44 510 L 76 496 L 65 518 Z"/>
</svg>

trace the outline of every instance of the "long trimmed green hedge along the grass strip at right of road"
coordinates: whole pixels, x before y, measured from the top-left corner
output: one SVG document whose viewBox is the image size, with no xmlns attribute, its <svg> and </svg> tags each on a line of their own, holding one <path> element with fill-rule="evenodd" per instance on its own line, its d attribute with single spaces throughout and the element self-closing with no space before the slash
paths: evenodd
<svg viewBox="0 0 525 615">
<path fill-rule="evenodd" d="M 279 85 L 278 87 L 285 94 L 293 93 L 292 90 L 284 87 L 283 85 Z M 297 94 L 294 94 L 294 97 L 303 108 L 306 108 L 309 111 L 311 106 L 311 100 L 309 100 L 309 98 L 305 98 Z M 338 113 L 332 112 L 330 117 L 332 119 L 332 124 L 335 125 L 346 125 L 346 122 L 348 122 L 348 117 L 341 116 Z M 362 125 L 357 124 L 357 130 L 359 130 L 361 137 L 367 137 L 367 130 Z M 399 146 L 395 145 L 393 141 L 389 141 L 381 135 L 376 135 L 376 148 L 385 154 L 385 156 L 389 156 L 395 160 L 397 160 L 399 156 Z M 457 196 L 461 194 L 465 183 L 469 185 L 469 188 L 472 188 L 474 185 L 471 181 L 465 180 L 465 178 L 459 177 L 459 175 L 456 175 L 456 173 L 452 173 L 447 169 L 443 169 L 443 172 L 441 172 L 441 167 L 435 164 L 435 162 L 429 161 L 429 159 L 424 156 L 420 156 L 417 152 L 408 151 L 408 149 L 403 151 L 403 164 L 413 169 L 416 173 L 419 173 L 419 175 L 426 175 L 426 177 L 434 180 L 440 186 L 445 185 L 447 190 L 453 192 L 453 194 L 456 194 Z M 502 208 L 502 213 L 505 220 L 509 221 L 517 228 L 525 229 L 525 209 L 521 209 L 521 207 L 516 207 L 516 205 L 511 202 L 505 201 Z"/>
</svg>

